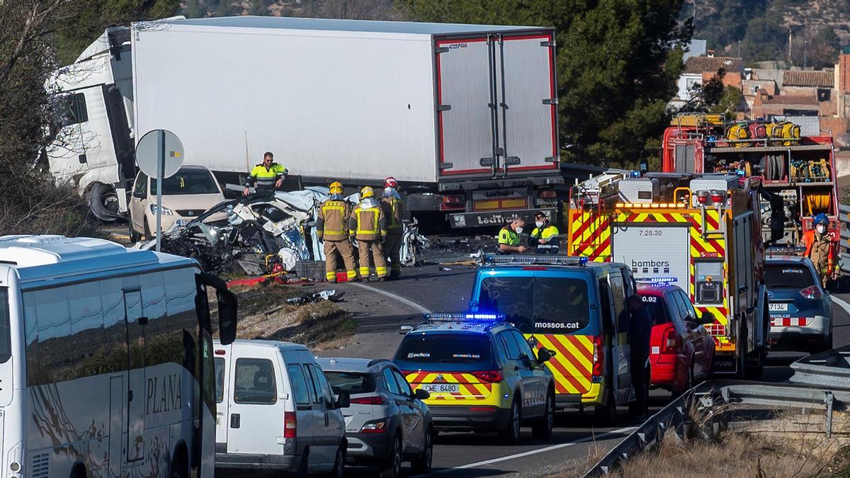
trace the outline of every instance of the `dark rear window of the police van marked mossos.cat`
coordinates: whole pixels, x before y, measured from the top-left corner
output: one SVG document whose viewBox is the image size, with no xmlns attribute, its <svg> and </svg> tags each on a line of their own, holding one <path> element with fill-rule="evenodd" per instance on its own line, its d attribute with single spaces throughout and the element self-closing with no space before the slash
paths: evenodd
<svg viewBox="0 0 850 478">
<path fill-rule="evenodd" d="M 505 314 L 523 333 L 573 333 L 590 323 L 587 282 L 571 277 L 487 277 L 479 310 Z"/>
</svg>

